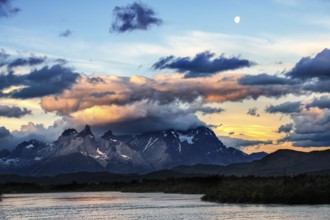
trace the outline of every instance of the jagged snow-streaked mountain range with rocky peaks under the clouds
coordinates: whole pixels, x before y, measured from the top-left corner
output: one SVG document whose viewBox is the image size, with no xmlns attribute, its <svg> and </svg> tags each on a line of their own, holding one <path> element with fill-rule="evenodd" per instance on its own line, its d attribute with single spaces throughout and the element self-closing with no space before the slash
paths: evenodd
<svg viewBox="0 0 330 220">
<path fill-rule="evenodd" d="M 70 128 L 53 143 L 29 140 L 0 151 L 0 173 L 57 175 L 74 172 L 145 173 L 196 164 L 229 165 L 261 159 L 226 147 L 205 126 L 139 135 L 105 132 L 97 139 L 89 125 Z"/>
</svg>

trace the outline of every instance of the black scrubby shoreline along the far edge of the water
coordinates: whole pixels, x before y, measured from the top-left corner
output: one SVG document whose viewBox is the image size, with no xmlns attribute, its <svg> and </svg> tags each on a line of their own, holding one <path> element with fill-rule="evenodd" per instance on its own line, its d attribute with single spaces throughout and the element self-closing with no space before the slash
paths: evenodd
<svg viewBox="0 0 330 220">
<path fill-rule="evenodd" d="M 122 192 L 201 194 L 201 201 L 234 204 L 330 204 L 330 176 L 294 177 L 207 176 L 143 179 L 129 182 L 41 185 L 2 183 L 3 194 L 57 192 Z"/>
</svg>

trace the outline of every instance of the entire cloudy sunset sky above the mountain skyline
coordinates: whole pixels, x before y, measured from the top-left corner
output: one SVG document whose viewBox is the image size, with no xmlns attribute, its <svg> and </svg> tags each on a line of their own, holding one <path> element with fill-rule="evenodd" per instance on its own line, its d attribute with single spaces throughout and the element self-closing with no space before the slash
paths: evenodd
<svg viewBox="0 0 330 220">
<path fill-rule="evenodd" d="M 327 149 L 329 10 L 326 0 L 0 0 L 0 149 L 85 124 L 98 135 L 209 126 L 246 153 Z"/>
</svg>

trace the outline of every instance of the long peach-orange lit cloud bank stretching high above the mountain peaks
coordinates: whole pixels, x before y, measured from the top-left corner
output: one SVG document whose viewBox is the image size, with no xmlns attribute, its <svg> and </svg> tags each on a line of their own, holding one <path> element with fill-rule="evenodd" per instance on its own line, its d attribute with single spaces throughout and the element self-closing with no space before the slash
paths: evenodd
<svg viewBox="0 0 330 220">
<path fill-rule="evenodd" d="M 156 75 L 153 78 L 142 76 L 100 77 L 104 82 L 90 83 L 89 78 L 82 77 L 78 83 L 62 95 L 42 98 L 42 108 L 45 111 L 68 115 L 93 106 L 123 106 L 143 100 L 159 102 L 161 105 L 175 102 L 190 105 L 201 99 L 204 105 L 257 99 L 260 96 L 280 97 L 290 92 L 290 89 L 286 88 L 271 86 L 253 88 L 239 85 L 237 79 L 240 75 L 237 74 L 214 75 L 205 78 L 203 82 L 197 78 L 184 79 L 180 74 Z"/>
</svg>

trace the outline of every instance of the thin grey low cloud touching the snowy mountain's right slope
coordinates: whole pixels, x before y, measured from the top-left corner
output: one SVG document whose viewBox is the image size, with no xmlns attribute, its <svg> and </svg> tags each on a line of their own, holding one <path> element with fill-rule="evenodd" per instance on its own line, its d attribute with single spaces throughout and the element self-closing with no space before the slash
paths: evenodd
<svg viewBox="0 0 330 220">
<path fill-rule="evenodd" d="M 268 145 L 273 144 L 271 140 L 267 141 L 261 141 L 261 140 L 246 140 L 241 138 L 233 138 L 228 136 L 219 136 L 219 139 L 226 145 L 227 147 L 235 147 L 238 149 L 242 149 L 244 147 L 248 146 L 254 146 L 254 145 Z"/>
</svg>

